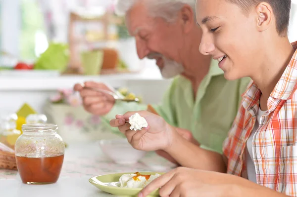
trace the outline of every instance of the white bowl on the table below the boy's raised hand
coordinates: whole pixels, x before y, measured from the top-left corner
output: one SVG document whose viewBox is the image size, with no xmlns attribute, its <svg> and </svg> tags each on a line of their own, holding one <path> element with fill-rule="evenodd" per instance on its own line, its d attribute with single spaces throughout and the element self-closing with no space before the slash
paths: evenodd
<svg viewBox="0 0 297 197">
<path fill-rule="evenodd" d="M 137 163 L 146 155 L 146 151 L 134 149 L 127 139 L 112 139 L 99 141 L 102 152 L 115 163 L 133 164 Z"/>
</svg>

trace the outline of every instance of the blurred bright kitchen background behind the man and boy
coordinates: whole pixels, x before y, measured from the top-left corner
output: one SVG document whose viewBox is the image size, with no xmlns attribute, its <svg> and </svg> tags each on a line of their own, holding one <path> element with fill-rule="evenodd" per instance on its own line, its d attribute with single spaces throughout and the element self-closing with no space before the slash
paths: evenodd
<svg viewBox="0 0 297 197">
<path fill-rule="evenodd" d="M 113 3 L 0 0 L 0 115 L 46 114 L 64 130 L 97 130 L 100 118 L 84 112 L 71 91 L 88 80 L 122 88 L 146 104 L 160 102 L 170 80 L 161 78 L 154 61 L 139 60 Z M 291 19 L 295 41 L 297 0 Z"/>
</svg>

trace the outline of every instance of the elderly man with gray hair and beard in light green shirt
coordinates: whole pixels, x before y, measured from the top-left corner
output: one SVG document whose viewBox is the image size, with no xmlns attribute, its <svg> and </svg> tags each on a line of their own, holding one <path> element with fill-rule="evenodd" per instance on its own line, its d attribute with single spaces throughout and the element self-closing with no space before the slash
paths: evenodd
<svg viewBox="0 0 297 197">
<path fill-rule="evenodd" d="M 195 0 L 118 0 L 116 11 L 125 15 L 139 58 L 155 59 L 164 78 L 175 77 L 162 104 L 154 106 L 157 113 L 178 127 L 183 137 L 203 149 L 222 153 L 222 142 L 249 79 L 227 81 L 218 62 L 199 53 L 202 31 L 196 24 Z M 85 86 L 108 89 L 96 82 Z M 85 109 L 106 122 L 116 114 L 147 108 L 115 102 L 80 84 L 74 89 L 80 91 Z M 163 151 L 157 154 L 174 162 Z"/>
</svg>

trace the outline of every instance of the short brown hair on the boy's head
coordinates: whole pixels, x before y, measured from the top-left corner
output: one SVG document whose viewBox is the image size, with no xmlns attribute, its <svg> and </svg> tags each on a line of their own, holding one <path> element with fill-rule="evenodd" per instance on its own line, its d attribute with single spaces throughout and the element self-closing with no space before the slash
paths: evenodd
<svg viewBox="0 0 297 197">
<path fill-rule="evenodd" d="M 250 8 L 260 2 L 267 2 L 271 5 L 276 19 L 276 30 L 280 36 L 286 36 L 289 28 L 291 0 L 227 0 L 239 5 L 248 13 Z"/>
</svg>

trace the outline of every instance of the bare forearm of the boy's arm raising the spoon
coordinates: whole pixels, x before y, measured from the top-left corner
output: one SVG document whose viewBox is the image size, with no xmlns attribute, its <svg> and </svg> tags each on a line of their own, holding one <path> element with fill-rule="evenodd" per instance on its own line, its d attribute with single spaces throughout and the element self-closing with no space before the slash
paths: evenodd
<svg viewBox="0 0 297 197">
<path fill-rule="evenodd" d="M 201 149 L 177 133 L 173 136 L 172 145 L 165 150 L 180 165 L 201 170 L 226 172 L 223 156 L 219 153 Z"/>
</svg>

